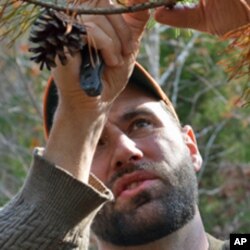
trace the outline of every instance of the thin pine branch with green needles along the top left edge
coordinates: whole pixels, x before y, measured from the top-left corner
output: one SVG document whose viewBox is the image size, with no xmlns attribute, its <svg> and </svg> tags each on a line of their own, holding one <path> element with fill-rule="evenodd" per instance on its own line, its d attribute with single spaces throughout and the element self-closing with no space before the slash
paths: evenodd
<svg viewBox="0 0 250 250">
<path fill-rule="evenodd" d="M 5 40 L 9 46 L 12 46 L 15 41 L 30 28 L 44 9 L 53 9 L 69 16 L 83 14 L 112 15 L 152 9 L 164 5 L 171 7 L 177 1 L 181 0 L 155 0 L 133 6 L 119 5 L 114 8 L 90 8 L 79 4 L 79 1 L 76 1 L 74 5 L 69 5 L 69 1 L 64 1 L 65 4 L 63 5 L 42 0 L 1 0 L 0 41 Z"/>
</svg>

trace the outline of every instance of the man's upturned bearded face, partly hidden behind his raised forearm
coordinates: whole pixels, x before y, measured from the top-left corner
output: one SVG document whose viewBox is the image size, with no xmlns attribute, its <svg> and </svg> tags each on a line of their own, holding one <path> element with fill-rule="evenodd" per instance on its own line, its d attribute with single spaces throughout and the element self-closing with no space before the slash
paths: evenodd
<svg viewBox="0 0 250 250">
<path fill-rule="evenodd" d="M 197 183 L 184 134 L 160 101 L 127 87 L 115 101 L 92 172 L 113 192 L 94 233 L 115 245 L 164 237 L 195 214 Z"/>
</svg>

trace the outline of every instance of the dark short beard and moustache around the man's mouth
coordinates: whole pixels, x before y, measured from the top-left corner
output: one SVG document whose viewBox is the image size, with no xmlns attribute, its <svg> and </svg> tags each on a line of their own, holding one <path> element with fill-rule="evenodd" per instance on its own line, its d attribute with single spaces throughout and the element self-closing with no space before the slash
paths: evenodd
<svg viewBox="0 0 250 250">
<path fill-rule="evenodd" d="M 178 168 L 169 170 L 164 162 L 144 163 L 121 170 L 108 186 L 135 171 L 148 171 L 156 178 L 150 188 L 139 192 L 126 207 L 116 201 L 104 205 L 92 229 L 102 240 L 120 246 L 146 244 L 182 228 L 195 214 L 197 181 L 189 155 Z"/>
</svg>

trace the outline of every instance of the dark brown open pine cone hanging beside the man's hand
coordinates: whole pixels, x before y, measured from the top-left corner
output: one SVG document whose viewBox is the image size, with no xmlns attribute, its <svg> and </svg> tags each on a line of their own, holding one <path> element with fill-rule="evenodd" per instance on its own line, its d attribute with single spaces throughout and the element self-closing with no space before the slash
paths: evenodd
<svg viewBox="0 0 250 250">
<path fill-rule="evenodd" d="M 50 70 L 56 66 L 55 57 L 58 55 L 61 63 L 67 63 L 65 48 L 73 56 L 86 45 L 83 39 L 86 29 L 83 25 L 74 22 L 63 13 L 54 10 L 45 10 L 34 22 L 29 40 L 34 47 L 29 51 L 35 55 L 31 60 L 44 65 Z"/>
</svg>

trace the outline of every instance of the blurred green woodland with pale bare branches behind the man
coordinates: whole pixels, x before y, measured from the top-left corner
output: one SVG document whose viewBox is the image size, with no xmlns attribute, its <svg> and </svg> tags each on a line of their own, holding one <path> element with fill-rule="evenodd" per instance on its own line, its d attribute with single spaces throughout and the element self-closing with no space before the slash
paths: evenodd
<svg viewBox="0 0 250 250">
<path fill-rule="evenodd" d="M 44 146 L 43 91 L 49 76 L 29 60 L 22 37 L 0 47 L 0 204 L 22 186 L 36 146 Z M 224 238 L 250 233 L 249 77 L 229 81 L 227 42 L 154 25 L 138 60 L 163 86 L 183 124 L 191 124 L 204 164 L 197 174 L 205 228 Z M 238 53 L 238 52 L 236 52 Z M 249 99 L 248 99 L 249 100 Z"/>
</svg>

